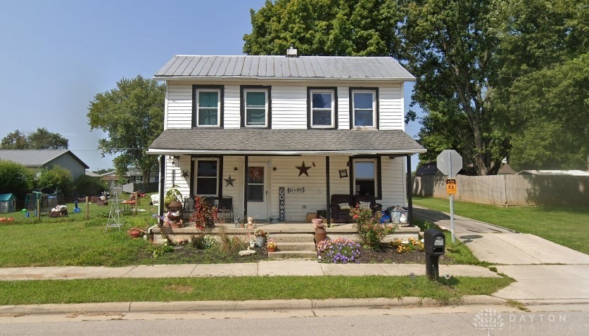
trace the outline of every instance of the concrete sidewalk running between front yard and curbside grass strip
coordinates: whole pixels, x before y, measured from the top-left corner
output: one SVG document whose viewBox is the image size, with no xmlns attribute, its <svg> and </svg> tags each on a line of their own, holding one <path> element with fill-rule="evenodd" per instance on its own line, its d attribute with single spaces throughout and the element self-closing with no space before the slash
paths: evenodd
<svg viewBox="0 0 589 336">
<path fill-rule="evenodd" d="M 70 280 L 87 278 L 172 278 L 205 276 L 416 276 L 422 264 L 319 264 L 314 260 L 283 259 L 244 264 L 140 265 L 126 267 L 18 267 L 0 269 L 0 280 Z M 496 277 L 481 266 L 440 265 L 441 274 Z"/>
</svg>

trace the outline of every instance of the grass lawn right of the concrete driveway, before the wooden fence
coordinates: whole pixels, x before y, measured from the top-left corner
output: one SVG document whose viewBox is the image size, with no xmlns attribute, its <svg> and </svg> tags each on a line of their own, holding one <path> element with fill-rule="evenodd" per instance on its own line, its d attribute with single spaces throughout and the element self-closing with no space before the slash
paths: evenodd
<svg viewBox="0 0 589 336">
<path fill-rule="evenodd" d="M 450 202 L 442 198 L 414 197 L 413 201 L 415 205 L 428 209 L 450 212 Z M 538 235 L 559 245 L 589 254 L 587 207 L 497 207 L 455 201 L 454 213 L 521 233 Z"/>
</svg>

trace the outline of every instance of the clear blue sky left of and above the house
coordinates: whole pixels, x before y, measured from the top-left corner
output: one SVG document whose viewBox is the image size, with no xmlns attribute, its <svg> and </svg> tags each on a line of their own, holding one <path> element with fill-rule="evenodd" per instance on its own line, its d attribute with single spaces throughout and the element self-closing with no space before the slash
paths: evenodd
<svg viewBox="0 0 589 336">
<path fill-rule="evenodd" d="M 250 8 L 265 0 L 20 0 L 0 11 L 0 138 L 38 127 L 59 133 L 90 170 L 101 158 L 87 112 L 122 77 L 153 77 L 173 55 L 241 55 Z M 407 90 L 408 91 L 408 90 Z M 405 93 L 406 104 L 410 92 Z M 416 123 L 407 133 L 419 131 Z M 417 157 L 412 159 L 413 169 Z"/>
</svg>

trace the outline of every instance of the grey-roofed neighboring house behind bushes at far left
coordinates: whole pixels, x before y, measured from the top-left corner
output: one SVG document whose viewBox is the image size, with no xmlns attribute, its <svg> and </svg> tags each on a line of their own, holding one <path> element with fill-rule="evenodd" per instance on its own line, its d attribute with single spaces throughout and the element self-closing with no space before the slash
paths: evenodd
<svg viewBox="0 0 589 336">
<path fill-rule="evenodd" d="M 70 150 L 20 150 L 20 149 L 2 149 L 0 150 L 0 160 L 13 161 L 23 164 L 36 172 L 42 169 L 51 169 L 60 166 L 68 169 L 72 173 L 72 178 L 83 175 L 88 169 L 88 165 L 82 162 L 79 157 L 74 155 Z"/>
</svg>

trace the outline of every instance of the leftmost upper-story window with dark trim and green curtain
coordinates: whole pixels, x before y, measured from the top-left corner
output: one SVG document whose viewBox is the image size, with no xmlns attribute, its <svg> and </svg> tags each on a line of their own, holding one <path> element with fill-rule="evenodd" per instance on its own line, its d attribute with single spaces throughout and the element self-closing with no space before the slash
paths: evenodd
<svg viewBox="0 0 589 336">
<path fill-rule="evenodd" d="M 193 127 L 223 126 L 223 86 L 193 86 Z"/>
</svg>

